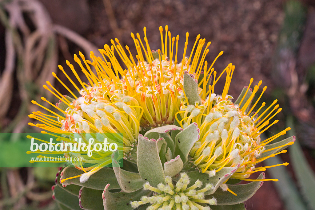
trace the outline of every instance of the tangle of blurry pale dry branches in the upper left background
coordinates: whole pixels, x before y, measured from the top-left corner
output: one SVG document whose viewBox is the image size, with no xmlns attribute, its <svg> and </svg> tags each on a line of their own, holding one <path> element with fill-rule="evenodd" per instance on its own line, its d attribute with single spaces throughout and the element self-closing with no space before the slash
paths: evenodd
<svg viewBox="0 0 315 210">
<path fill-rule="evenodd" d="M 25 19 L 27 18 L 27 20 Z M 31 100 L 38 100 L 41 86 L 54 83 L 52 72 L 58 64 L 57 34 L 74 42 L 89 54 L 98 48 L 76 32 L 54 25 L 46 8 L 37 0 L 9 0 L 0 2 L 0 19 L 5 26 L 5 69 L 0 75 L 0 119 L 10 109 L 13 87 L 19 87 L 21 108 L 7 132 L 21 132 L 27 113 L 35 110 Z M 31 21 L 31 23 L 30 23 Z M 14 74 L 18 84 L 14 84 Z M 2 122 L 0 122 L 0 125 Z"/>
</svg>

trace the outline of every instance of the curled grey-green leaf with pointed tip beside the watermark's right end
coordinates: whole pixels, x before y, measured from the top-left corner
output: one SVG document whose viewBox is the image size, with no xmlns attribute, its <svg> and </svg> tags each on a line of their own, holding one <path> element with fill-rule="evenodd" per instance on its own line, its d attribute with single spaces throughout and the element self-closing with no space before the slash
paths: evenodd
<svg viewBox="0 0 315 210">
<path fill-rule="evenodd" d="M 121 169 L 114 158 L 115 157 L 112 158 L 113 169 L 122 191 L 134 192 L 142 188 L 144 181 L 141 179 L 140 174 Z"/>
</svg>

